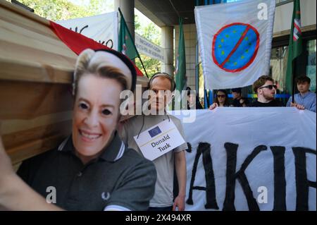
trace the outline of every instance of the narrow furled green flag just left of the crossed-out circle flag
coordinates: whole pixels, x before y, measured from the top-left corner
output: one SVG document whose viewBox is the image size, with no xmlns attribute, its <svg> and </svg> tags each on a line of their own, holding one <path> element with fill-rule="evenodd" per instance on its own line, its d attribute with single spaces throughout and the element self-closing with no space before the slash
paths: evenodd
<svg viewBox="0 0 317 225">
<path fill-rule="evenodd" d="M 180 19 L 180 39 L 178 42 L 178 53 L 176 54 L 176 65 L 175 65 L 175 84 L 176 90 L 182 93 L 182 90 L 186 90 L 187 78 L 186 78 L 186 55 L 185 55 L 185 38 L 182 30 L 182 19 Z M 180 96 L 181 97 L 181 96 Z M 184 97 L 182 97 L 184 99 Z M 184 101 L 187 102 L 187 95 Z M 185 108 L 183 104 L 182 108 Z M 187 108 L 187 107 L 186 107 Z"/>
</svg>

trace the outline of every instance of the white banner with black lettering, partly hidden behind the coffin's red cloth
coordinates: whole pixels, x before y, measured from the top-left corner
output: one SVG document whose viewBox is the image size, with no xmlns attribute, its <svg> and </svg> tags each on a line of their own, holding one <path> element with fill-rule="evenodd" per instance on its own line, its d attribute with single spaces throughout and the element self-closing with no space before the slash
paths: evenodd
<svg viewBox="0 0 317 225">
<path fill-rule="evenodd" d="M 118 49 L 118 13 L 58 20 L 59 25 L 78 32 L 112 49 Z"/>
</svg>

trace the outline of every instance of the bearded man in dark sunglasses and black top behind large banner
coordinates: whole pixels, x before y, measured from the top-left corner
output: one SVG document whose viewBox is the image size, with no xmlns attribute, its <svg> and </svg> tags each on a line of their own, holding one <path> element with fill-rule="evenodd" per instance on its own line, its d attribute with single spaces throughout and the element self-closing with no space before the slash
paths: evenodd
<svg viewBox="0 0 317 225">
<path fill-rule="evenodd" d="M 268 75 L 262 75 L 253 83 L 253 90 L 258 99 L 252 102 L 249 107 L 283 107 L 282 102 L 275 99 L 277 86 L 274 80 Z"/>
</svg>

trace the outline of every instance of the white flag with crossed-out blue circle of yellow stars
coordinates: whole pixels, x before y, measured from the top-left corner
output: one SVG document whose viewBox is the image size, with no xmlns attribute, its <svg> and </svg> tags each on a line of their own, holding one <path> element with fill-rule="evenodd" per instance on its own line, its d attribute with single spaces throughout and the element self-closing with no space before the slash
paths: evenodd
<svg viewBox="0 0 317 225">
<path fill-rule="evenodd" d="M 194 9 L 206 89 L 251 85 L 268 75 L 275 0 Z"/>
</svg>

